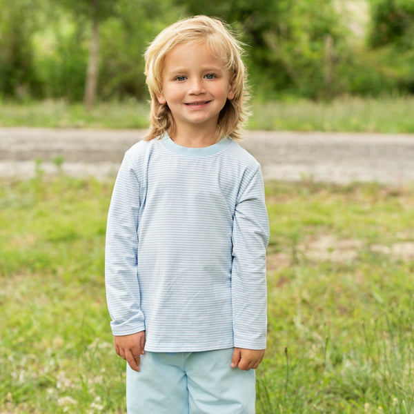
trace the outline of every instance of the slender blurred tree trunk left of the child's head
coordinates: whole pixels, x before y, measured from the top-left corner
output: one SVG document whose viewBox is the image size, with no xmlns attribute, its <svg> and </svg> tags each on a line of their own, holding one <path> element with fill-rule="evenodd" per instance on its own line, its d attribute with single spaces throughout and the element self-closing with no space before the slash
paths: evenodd
<svg viewBox="0 0 414 414">
<path fill-rule="evenodd" d="M 97 94 L 98 66 L 99 66 L 99 0 L 92 0 L 92 37 L 90 39 L 90 50 L 88 59 L 88 70 L 86 72 L 85 95 L 83 102 L 86 108 L 91 109 Z"/>
</svg>

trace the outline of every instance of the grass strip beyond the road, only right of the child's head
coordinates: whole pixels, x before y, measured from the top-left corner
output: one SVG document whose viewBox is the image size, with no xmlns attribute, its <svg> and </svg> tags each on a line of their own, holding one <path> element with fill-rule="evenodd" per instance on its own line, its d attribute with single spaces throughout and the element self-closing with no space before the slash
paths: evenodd
<svg viewBox="0 0 414 414">
<path fill-rule="evenodd" d="M 256 102 L 250 129 L 414 132 L 414 97 L 342 97 L 333 101 Z"/>
</svg>

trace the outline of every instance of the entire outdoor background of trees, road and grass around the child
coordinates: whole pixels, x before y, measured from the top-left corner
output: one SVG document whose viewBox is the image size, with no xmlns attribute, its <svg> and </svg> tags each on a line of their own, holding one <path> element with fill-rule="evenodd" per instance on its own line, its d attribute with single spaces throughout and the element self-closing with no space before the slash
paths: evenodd
<svg viewBox="0 0 414 414">
<path fill-rule="evenodd" d="M 192 14 L 246 43 L 257 414 L 414 414 L 414 0 L 0 0 L 0 414 L 126 411 L 106 216 L 148 127 L 144 50 Z"/>
</svg>

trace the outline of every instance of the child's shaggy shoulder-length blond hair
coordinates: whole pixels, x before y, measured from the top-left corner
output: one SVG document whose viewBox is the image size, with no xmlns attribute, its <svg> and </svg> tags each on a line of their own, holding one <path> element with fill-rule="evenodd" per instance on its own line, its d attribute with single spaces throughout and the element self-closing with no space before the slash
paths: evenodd
<svg viewBox="0 0 414 414">
<path fill-rule="evenodd" d="M 207 16 L 194 16 L 177 21 L 162 30 L 150 43 L 145 52 L 145 75 L 151 96 L 150 130 L 146 139 L 162 137 L 165 132 L 173 133 L 175 122 L 167 103 L 161 105 L 157 94 L 161 94 L 161 72 L 164 59 L 172 48 L 183 43 L 206 43 L 216 57 L 223 60 L 230 72 L 233 99 L 227 99 L 217 122 L 217 139 L 227 136 L 242 139 L 242 126 L 248 112 L 246 103 L 246 68 L 242 61 L 242 43 L 235 39 L 231 30 L 221 20 Z"/>
</svg>

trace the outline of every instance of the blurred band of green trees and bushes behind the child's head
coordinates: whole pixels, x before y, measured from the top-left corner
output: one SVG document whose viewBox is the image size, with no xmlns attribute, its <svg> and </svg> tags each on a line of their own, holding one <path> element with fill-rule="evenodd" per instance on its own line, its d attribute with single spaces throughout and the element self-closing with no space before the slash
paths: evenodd
<svg viewBox="0 0 414 414">
<path fill-rule="evenodd" d="M 0 102 L 146 100 L 146 46 L 192 14 L 239 33 L 257 100 L 414 92 L 412 0 L 0 0 Z"/>
</svg>

